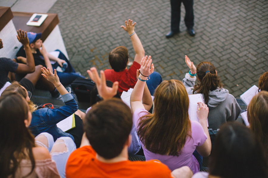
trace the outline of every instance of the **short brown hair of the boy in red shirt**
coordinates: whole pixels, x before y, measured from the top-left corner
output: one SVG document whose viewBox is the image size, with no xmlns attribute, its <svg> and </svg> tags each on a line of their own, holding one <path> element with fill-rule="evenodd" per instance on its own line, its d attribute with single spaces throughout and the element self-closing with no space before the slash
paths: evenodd
<svg viewBox="0 0 268 178">
<path fill-rule="evenodd" d="M 109 53 L 109 63 L 116 72 L 122 71 L 127 67 L 128 50 L 124 46 L 114 48 Z"/>
</svg>

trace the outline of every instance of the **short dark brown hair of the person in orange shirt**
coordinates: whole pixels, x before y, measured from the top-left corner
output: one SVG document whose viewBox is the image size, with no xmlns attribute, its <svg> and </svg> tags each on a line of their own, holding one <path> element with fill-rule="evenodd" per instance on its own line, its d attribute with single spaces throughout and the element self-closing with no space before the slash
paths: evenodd
<svg viewBox="0 0 268 178">
<path fill-rule="evenodd" d="M 105 159 L 118 156 L 132 128 L 130 108 L 118 98 L 100 101 L 85 116 L 85 133 L 96 153 Z"/>
</svg>

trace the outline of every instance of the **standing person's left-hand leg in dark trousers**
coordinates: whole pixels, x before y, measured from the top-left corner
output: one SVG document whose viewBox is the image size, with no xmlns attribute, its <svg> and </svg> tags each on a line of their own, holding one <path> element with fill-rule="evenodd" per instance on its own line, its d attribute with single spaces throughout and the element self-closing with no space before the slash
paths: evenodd
<svg viewBox="0 0 268 178">
<path fill-rule="evenodd" d="M 171 5 L 171 31 L 180 31 L 180 5 L 181 0 L 170 0 Z"/>
</svg>

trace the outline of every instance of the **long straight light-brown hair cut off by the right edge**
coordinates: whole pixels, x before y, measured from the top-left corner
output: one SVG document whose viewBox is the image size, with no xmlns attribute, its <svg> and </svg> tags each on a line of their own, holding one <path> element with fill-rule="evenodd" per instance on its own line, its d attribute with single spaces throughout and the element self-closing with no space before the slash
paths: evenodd
<svg viewBox="0 0 268 178">
<path fill-rule="evenodd" d="M 268 159 L 268 92 L 261 91 L 255 95 L 247 107 L 250 130 L 262 143 Z"/>
</svg>

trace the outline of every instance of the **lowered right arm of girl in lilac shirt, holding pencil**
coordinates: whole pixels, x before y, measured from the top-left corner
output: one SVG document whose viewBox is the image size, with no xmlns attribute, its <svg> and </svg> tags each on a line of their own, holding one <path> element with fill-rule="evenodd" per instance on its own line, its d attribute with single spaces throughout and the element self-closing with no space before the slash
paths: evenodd
<svg viewBox="0 0 268 178">
<path fill-rule="evenodd" d="M 199 123 L 201 124 L 202 128 L 205 131 L 207 139 L 205 143 L 203 143 L 201 146 L 196 147 L 196 150 L 201 156 L 207 157 L 210 155 L 210 152 L 211 152 L 211 140 L 208 134 L 208 126 L 207 126 L 208 106 L 202 102 L 198 102 L 197 104 L 200 107 L 200 109 L 197 108 L 197 117 L 198 117 Z"/>
</svg>

